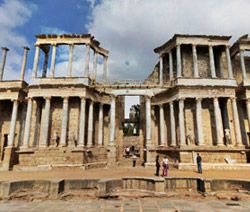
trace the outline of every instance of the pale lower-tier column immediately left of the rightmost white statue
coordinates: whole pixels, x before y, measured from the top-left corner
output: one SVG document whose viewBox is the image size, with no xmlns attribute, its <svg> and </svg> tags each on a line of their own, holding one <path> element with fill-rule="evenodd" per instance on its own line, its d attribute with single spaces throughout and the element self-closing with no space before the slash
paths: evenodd
<svg viewBox="0 0 250 212">
<path fill-rule="evenodd" d="M 214 103 L 214 119 L 215 119 L 217 145 L 222 146 L 223 145 L 223 126 L 222 126 L 222 117 L 221 117 L 221 110 L 220 110 L 218 98 L 214 98 L 213 103 Z"/>
</svg>

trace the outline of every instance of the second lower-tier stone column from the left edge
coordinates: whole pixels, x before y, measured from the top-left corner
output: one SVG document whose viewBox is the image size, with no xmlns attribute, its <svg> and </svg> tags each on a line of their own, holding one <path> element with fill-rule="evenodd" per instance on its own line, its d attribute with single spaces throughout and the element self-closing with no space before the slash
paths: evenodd
<svg viewBox="0 0 250 212">
<path fill-rule="evenodd" d="M 22 147 L 24 148 L 27 148 L 29 146 L 32 104 L 33 104 L 32 98 L 28 98 L 28 107 L 27 107 L 27 113 L 26 113 L 26 119 L 25 119 L 23 145 L 22 145 Z"/>
</svg>

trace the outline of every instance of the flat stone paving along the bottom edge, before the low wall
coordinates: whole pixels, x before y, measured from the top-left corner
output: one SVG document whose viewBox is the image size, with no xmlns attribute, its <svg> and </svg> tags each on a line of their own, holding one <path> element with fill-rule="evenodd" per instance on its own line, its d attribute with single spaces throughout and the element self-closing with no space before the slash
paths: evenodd
<svg viewBox="0 0 250 212">
<path fill-rule="evenodd" d="M 190 200 L 190 199 L 166 199 L 166 198 L 140 198 L 118 200 L 46 200 L 46 201 L 0 201 L 0 212 L 165 212 L 165 211 L 206 211 L 206 212 L 248 212 L 250 201 L 230 200 Z"/>
</svg>

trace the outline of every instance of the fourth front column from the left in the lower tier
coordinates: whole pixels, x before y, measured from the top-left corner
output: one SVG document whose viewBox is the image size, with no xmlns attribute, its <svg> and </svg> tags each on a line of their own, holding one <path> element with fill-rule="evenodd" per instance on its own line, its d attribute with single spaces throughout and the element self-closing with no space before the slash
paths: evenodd
<svg viewBox="0 0 250 212">
<path fill-rule="evenodd" d="M 68 117 L 69 117 L 69 98 L 63 98 L 63 114 L 62 114 L 62 127 L 61 127 L 61 142 L 60 146 L 66 146 L 67 129 L 68 129 Z"/>
</svg>

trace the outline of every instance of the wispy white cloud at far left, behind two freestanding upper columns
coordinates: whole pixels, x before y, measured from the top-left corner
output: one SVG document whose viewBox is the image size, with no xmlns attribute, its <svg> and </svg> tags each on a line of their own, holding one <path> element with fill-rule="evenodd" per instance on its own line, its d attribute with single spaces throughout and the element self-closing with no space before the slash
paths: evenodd
<svg viewBox="0 0 250 212">
<path fill-rule="evenodd" d="M 10 49 L 4 79 L 19 79 L 23 53 L 21 47 L 28 45 L 28 42 L 15 29 L 27 23 L 35 10 L 34 4 L 26 4 L 20 0 L 4 0 L 0 4 L 0 45 Z"/>
</svg>

